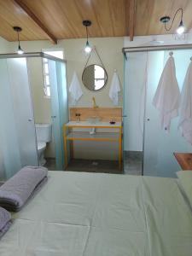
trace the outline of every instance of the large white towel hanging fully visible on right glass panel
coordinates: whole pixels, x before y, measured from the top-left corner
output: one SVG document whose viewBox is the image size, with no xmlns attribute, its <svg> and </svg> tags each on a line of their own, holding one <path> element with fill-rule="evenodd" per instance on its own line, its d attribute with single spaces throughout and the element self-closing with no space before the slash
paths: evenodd
<svg viewBox="0 0 192 256">
<path fill-rule="evenodd" d="M 178 115 L 180 91 L 177 84 L 175 61 L 172 56 L 166 61 L 153 104 L 160 112 L 161 128 L 170 131 L 171 121 Z"/>
</svg>

